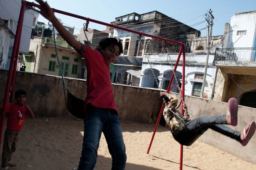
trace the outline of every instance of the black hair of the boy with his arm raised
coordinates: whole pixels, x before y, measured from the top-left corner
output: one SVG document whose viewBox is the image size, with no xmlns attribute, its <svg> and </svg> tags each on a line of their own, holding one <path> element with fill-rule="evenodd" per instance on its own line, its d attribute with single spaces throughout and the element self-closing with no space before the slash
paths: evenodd
<svg viewBox="0 0 256 170">
<path fill-rule="evenodd" d="M 104 38 L 100 40 L 99 47 L 96 48 L 96 50 L 105 50 L 106 47 L 110 47 L 111 45 L 117 45 L 119 47 L 119 53 L 118 56 L 120 56 L 121 53 L 123 53 L 123 45 L 121 44 L 121 40 L 117 38 Z"/>
</svg>

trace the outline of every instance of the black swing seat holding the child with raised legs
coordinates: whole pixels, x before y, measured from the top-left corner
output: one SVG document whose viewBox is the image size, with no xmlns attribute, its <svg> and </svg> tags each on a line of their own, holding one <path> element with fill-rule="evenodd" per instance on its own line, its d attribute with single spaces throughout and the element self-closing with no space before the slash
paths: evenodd
<svg viewBox="0 0 256 170">
<path fill-rule="evenodd" d="M 185 122 L 172 133 L 174 139 L 181 145 L 191 146 L 202 134 L 191 132 Z"/>
</svg>

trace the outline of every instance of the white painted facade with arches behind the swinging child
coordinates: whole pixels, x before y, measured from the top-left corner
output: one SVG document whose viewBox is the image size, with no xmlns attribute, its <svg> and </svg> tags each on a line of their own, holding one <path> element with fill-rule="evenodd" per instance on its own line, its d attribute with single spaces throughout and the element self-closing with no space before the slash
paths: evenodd
<svg viewBox="0 0 256 170">
<path fill-rule="evenodd" d="M 173 67 L 175 65 L 175 62 L 177 60 L 178 54 L 172 54 L 171 55 L 171 61 L 173 63 Z M 194 54 L 194 53 L 186 53 L 186 65 L 185 65 L 185 95 L 192 95 L 193 91 L 193 85 L 194 82 L 203 82 L 202 80 L 194 79 L 195 73 L 201 73 L 204 74 L 204 68 L 205 68 L 205 54 Z M 209 55 L 209 62 L 208 62 L 208 68 L 207 68 L 207 75 L 206 75 L 206 84 L 204 93 L 208 95 L 208 97 L 211 97 L 212 94 L 212 83 L 215 76 L 215 67 L 212 66 L 212 62 L 214 59 L 214 55 Z M 153 67 L 156 76 L 159 76 L 158 79 L 161 81 L 161 79 L 164 81 L 165 79 L 168 79 L 169 76 L 166 78 L 163 76 L 168 71 L 172 71 L 173 68 L 170 64 L 170 59 L 168 58 L 167 54 L 152 54 L 149 55 L 149 60 L 151 63 L 151 66 Z M 182 57 L 179 61 L 179 66 L 177 67 L 177 72 L 182 73 Z M 152 76 L 150 64 L 147 62 L 147 57 L 144 57 L 143 64 L 141 68 L 141 81 L 140 81 L 140 87 L 151 87 L 152 88 L 152 81 L 154 81 L 154 78 Z M 170 74 L 170 72 L 169 72 Z M 150 78 L 151 80 L 148 80 Z M 181 81 L 181 80 L 180 80 Z M 160 83 L 161 84 L 161 83 Z M 173 83 L 176 84 L 176 83 Z"/>
</svg>

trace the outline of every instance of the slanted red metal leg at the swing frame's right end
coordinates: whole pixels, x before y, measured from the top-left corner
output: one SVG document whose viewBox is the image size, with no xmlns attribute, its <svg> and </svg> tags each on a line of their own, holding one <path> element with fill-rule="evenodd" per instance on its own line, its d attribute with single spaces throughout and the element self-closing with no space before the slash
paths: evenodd
<svg viewBox="0 0 256 170">
<path fill-rule="evenodd" d="M 181 56 L 181 53 L 182 53 L 182 49 L 183 49 L 183 46 L 181 46 L 181 48 L 180 48 L 179 56 L 178 56 L 178 58 L 177 58 L 177 61 L 176 61 L 175 66 L 174 66 L 174 73 L 175 73 L 175 71 L 176 71 L 176 69 L 177 69 L 177 67 L 178 67 L 178 63 L 179 63 L 179 59 L 180 59 L 180 56 Z M 169 85 L 168 85 L 167 93 L 169 93 L 169 91 L 170 91 L 170 89 L 171 89 L 171 83 L 172 83 L 173 78 L 174 78 L 174 73 L 173 73 L 172 76 L 171 76 L 171 80 L 170 80 Z M 150 151 L 150 148 L 151 148 L 153 139 L 154 139 L 154 137 L 155 137 L 156 129 L 157 129 L 157 127 L 158 127 L 158 124 L 159 124 L 159 121 L 160 121 L 160 118 L 161 118 L 161 115 L 162 115 L 164 106 L 165 106 L 165 103 L 162 103 L 161 111 L 160 111 L 160 113 L 159 113 L 158 119 L 156 120 L 156 126 L 155 126 L 155 129 L 154 129 L 154 131 L 153 131 L 153 135 L 152 135 L 152 137 L 151 137 L 150 144 L 149 144 L 149 146 L 148 146 L 148 148 L 147 148 L 147 154 L 148 154 L 149 151 Z"/>
</svg>

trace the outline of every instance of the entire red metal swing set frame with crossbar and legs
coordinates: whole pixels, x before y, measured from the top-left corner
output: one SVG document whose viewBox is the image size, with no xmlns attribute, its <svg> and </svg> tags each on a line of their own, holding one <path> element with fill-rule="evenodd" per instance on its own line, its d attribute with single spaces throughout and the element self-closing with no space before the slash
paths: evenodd
<svg viewBox="0 0 256 170">
<path fill-rule="evenodd" d="M 22 32 L 22 26 L 23 26 L 24 13 L 25 13 L 26 6 L 35 7 L 36 4 L 32 3 L 32 2 L 25 1 L 25 0 L 21 1 L 21 11 L 20 11 L 20 15 L 19 15 L 19 19 L 18 19 L 18 25 L 17 25 L 17 29 L 16 29 L 16 34 L 15 34 L 15 40 L 14 40 L 14 45 L 13 45 L 13 50 L 12 50 L 12 57 L 11 57 L 11 62 L 10 62 L 10 66 L 9 66 L 9 74 L 8 74 L 8 77 L 7 77 L 4 100 L 3 100 L 3 109 L 2 109 L 1 120 L 0 120 L 0 144 L 2 143 L 3 127 L 4 127 L 5 116 L 6 116 L 6 105 L 7 105 L 9 92 L 11 93 L 10 102 L 12 102 L 13 93 L 14 93 L 14 89 L 15 89 L 15 80 L 16 80 L 16 71 L 17 71 L 16 68 L 17 68 L 17 64 L 18 64 L 18 54 L 19 54 L 19 47 L 20 47 L 20 42 L 21 42 L 21 32 Z M 177 66 L 178 66 L 178 63 L 179 63 L 179 59 L 182 55 L 182 93 L 181 93 L 181 96 L 182 96 L 182 100 L 183 100 L 182 102 L 184 103 L 184 99 L 185 99 L 185 95 L 184 95 L 184 91 L 185 91 L 185 44 L 184 43 L 178 42 L 178 41 L 173 41 L 173 40 L 170 40 L 170 39 L 167 39 L 167 38 L 158 37 L 158 36 L 155 36 L 155 35 L 146 34 L 144 32 L 138 32 L 138 31 L 135 31 L 135 30 L 132 30 L 132 29 L 127 29 L 127 28 L 124 28 L 124 27 L 121 27 L 121 26 L 116 26 L 116 25 L 110 24 L 110 23 L 104 23 L 104 22 L 97 21 L 97 20 L 94 20 L 94 19 L 91 19 L 91 18 L 86 18 L 86 17 L 80 16 L 80 15 L 75 15 L 75 14 L 72 14 L 72 13 L 69 13 L 69 12 L 64 12 L 64 11 L 61 11 L 61 10 L 58 10 L 58 9 L 54 9 L 54 8 L 52 8 L 52 9 L 53 9 L 53 12 L 63 14 L 63 15 L 68 15 L 68 16 L 71 16 L 71 17 L 74 17 L 74 18 L 79 18 L 79 19 L 87 21 L 86 22 L 86 28 L 88 27 L 89 22 L 93 22 L 93 23 L 98 23 L 98 24 L 104 25 L 104 26 L 110 26 L 110 27 L 115 28 L 115 29 L 121 29 L 121 30 L 124 30 L 124 31 L 127 31 L 127 32 L 132 32 L 132 33 L 138 34 L 139 38 L 141 38 L 141 36 L 147 36 L 147 37 L 150 37 L 150 38 L 153 38 L 153 39 L 164 41 L 164 47 L 166 47 L 167 43 L 179 45 L 180 46 L 179 55 L 177 57 L 177 61 L 176 61 L 176 64 L 175 64 L 175 67 L 174 67 L 174 70 L 173 70 L 173 73 L 172 73 L 172 76 L 171 76 L 171 80 L 170 80 L 170 83 L 168 85 L 167 93 L 169 93 L 169 91 L 172 88 L 171 83 L 174 79 L 174 73 L 176 72 L 176 69 L 177 69 Z M 164 107 L 165 107 L 165 104 L 163 102 L 161 111 L 159 112 L 159 116 L 158 116 L 158 119 L 156 121 L 156 126 L 154 128 L 152 138 L 150 140 L 149 147 L 147 149 L 147 154 L 149 153 L 150 147 L 152 146 L 153 138 L 155 136 L 156 129 L 159 125 L 159 121 L 160 121 L 160 118 L 161 118 L 162 111 L 163 111 Z M 183 109 L 181 109 L 181 110 L 182 110 L 182 115 L 184 115 Z M 180 145 L 179 170 L 182 170 L 182 160 L 183 160 L 183 145 Z"/>
</svg>

